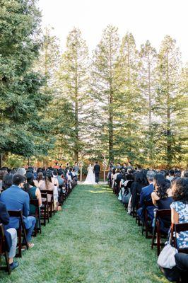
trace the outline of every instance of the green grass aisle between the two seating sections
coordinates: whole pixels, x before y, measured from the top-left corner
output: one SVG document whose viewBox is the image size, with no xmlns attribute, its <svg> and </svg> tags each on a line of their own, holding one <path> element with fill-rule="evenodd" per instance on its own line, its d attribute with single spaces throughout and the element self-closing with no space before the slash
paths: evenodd
<svg viewBox="0 0 188 283">
<path fill-rule="evenodd" d="M 0 282 L 167 282 L 150 240 L 105 185 L 75 187 L 34 243 Z"/>
</svg>

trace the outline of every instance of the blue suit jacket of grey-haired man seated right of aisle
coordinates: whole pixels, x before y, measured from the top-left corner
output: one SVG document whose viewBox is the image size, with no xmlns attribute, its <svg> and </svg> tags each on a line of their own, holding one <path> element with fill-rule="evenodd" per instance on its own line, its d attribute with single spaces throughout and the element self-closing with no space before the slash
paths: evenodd
<svg viewBox="0 0 188 283">
<path fill-rule="evenodd" d="M 154 187 L 153 183 L 149 184 L 146 187 L 143 187 L 141 190 L 141 195 L 140 195 L 140 205 L 142 209 L 144 209 L 144 202 L 148 202 L 151 200 L 151 193 L 153 192 Z M 153 219 L 153 209 L 155 208 L 154 204 L 150 207 L 147 207 L 148 215 Z"/>
</svg>

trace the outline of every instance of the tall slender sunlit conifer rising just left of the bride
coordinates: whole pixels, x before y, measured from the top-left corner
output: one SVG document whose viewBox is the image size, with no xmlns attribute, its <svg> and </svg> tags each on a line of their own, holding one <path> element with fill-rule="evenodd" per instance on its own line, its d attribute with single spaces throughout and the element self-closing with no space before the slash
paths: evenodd
<svg viewBox="0 0 188 283">
<path fill-rule="evenodd" d="M 85 144 L 90 104 L 88 47 L 78 28 L 71 30 L 67 37 L 66 51 L 62 54 L 57 76 L 61 88 L 58 105 L 62 115 L 59 115 L 59 126 L 66 126 L 63 127 L 63 134 L 78 161 Z M 61 144 L 64 146 L 62 140 Z"/>
</svg>

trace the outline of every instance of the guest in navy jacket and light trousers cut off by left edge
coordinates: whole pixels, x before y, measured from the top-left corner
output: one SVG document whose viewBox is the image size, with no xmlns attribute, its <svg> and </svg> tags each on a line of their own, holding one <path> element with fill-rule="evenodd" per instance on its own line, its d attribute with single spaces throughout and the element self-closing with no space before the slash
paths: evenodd
<svg viewBox="0 0 188 283">
<path fill-rule="evenodd" d="M 6 205 L 3 202 L 0 202 L 0 223 L 7 225 L 9 223 L 9 218 Z M 14 228 L 9 228 L 4 229 L 4 233 L 6 238 L 6 251 L 8 251 L 8 261 L 11 270 L 13 270 L 18 267 L 18 262 L 13 261 L 13 258 L 16 255 L 17 231 Z"/>
</svg>

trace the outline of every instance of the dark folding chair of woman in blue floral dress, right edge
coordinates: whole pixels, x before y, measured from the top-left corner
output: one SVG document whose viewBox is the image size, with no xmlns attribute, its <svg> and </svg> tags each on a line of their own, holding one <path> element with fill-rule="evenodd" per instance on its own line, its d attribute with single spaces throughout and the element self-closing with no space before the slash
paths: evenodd
<svg viewBox="0 0 188 283">
<path fill-rule="evenodd" d="M 188 248 L 178 248 L 177 246 L 177 233 L 183 231 L 188 231 L 188 222 L 171 225 L 171 243 L 177 248 L 178 253 L 188 253 Z"/>
</svg>

